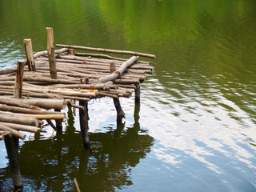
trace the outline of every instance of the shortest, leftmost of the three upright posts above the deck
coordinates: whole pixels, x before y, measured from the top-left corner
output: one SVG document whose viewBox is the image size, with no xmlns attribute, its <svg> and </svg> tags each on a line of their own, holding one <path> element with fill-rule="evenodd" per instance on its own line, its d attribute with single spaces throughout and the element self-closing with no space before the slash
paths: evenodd
<svg viewBox="0 0 256 192">
<path fill-rule="evenodd" d="M 23 83 L 23 71 L 25 60 L 18 60 L 15 86 L 14 86 L 14 98 L 22 98 L 22 83 Z"/>
</svg>

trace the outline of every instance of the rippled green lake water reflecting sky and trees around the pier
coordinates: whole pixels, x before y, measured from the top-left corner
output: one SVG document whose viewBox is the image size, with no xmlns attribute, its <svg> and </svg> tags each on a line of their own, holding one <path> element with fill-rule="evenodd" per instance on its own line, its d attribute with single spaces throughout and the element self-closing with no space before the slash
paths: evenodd
<svg viewBox="0 0 256 192">
<path fill-rule="evenodd" d="M 65 134 L 49 126 L 21 142 L 25 191 L 256 191 L 256 2 L 1 1 L 0 67 L 24 58 L 23 38 L 156 54 L 141 105 L 89 103 L 92 150 L 78 117 Z M 0 142 L 0 187 L 12 181 Z"/>
</svg>

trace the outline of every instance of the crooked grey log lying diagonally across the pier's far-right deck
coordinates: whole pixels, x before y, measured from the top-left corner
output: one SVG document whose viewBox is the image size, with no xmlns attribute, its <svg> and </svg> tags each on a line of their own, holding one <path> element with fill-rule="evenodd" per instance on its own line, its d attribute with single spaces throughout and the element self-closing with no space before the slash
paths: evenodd
<svg viewBox="0 0 256 192">
<path fill-rule="evenodd" d="M 114 79 L 120 77 L 122 73 L 127 69 L 127 67 L 131 66 L 134 62 L 138 60 L 138 56 L 131 57 L 128 61 L 123 62 L 122 66 L 119 67 L 113 74 L 107 75 L 105 77 L 99 78 L 99 82 L 109 82 L 113 81 Z"/>
</svg>

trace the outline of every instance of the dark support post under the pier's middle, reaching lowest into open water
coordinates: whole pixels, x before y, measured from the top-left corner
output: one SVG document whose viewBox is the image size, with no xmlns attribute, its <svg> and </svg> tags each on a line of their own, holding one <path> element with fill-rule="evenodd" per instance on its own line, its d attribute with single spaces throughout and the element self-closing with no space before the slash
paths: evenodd
<svg viewBox="0 0 256 192">
<path fill-rule="evenodd" d="M 80 129 L 82 134 L 82 144 L 86 149 L 90 148 L 90 139 L 89 139 L 89 127 L 88 122 L 86 118 L 86 102 L 85 101 L 79 101 L 79 105 L 83 106 L 84 109 L 79 109 L 79 120 L 80 120 Z"/>
</svg>

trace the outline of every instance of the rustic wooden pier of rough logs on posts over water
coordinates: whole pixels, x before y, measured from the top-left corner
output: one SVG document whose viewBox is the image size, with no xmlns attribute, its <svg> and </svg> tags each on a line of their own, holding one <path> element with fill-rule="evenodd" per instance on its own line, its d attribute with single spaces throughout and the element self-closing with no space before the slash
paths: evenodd
<svg viewBox="0 0 256 192">
<path fill-rule="evenodd" d="M 82 144 L 90 148 L 87 102 L 94 98 L 113 98 L 117 122 L 122 122 L 125 113 L 119 98 L 130 98 L 134 91 L 135 102 L 140 102 L 140 83 L 147 79 L 146 74 L 154 72 L 149 62 L 139 59 L 155 58 L 152 54 L 54 45 L 53 29 L 47 27 L 46 32 L 46 51 L 34 54 L 31 39 L 24 39 L 26 59 L 18 60 L 17 67 L 0 70 L 0 140 L 6 144 L 16 190 L 22 188 L 18 139 L 26 137 L 19 130 L 36 133 L 46 121 L 61 134 L 66 119 L 62 110 L 69 105 L 79 109 Z M 60 49 L 55 50 L 55 46 Z M 131 57 L 116 58 L 93 51 Z"/>
</svg>

